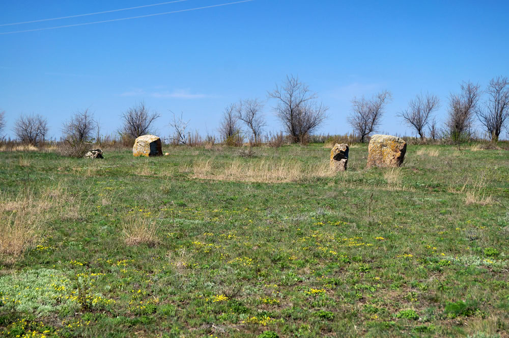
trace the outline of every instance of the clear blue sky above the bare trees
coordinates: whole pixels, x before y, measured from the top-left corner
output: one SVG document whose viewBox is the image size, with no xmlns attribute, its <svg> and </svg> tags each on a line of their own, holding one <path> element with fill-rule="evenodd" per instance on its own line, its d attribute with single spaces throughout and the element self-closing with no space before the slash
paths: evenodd
<svg viewBox="0 0 509 338">
<path fill-rule="evenodd" d="M 0 33 L 111 20 L 229 3 L 174 4 L 62 20 L 0 26 Z M 161 0 L 74 2 L 5 0 L 0 24 L 156 4 Z M 420 92 L 441 98 L 461 81 L 486 87 L 509 76 L 507 1 L 254 0 L 223 7 L 77 27 L 0 35 L 0 110 L 7 134 L 20 114 L 47 117 L 50 135 L 62 121 L 89 108 L 110 134 L 119 115 L 145 101 L 170 133 L 169 110 L 190 119 L 201 134 L 216 133 L 225 106 L 267 98 L 287 74 L 319 93 L 330 118 L 321 132 L 351 131 L 346 117 L 354 96 L 379 90 L 393 101 L 380 132 L 411 134 L 395 117 Z M 275 102 L 264 113 L 276 132 Z"/>
</svg>

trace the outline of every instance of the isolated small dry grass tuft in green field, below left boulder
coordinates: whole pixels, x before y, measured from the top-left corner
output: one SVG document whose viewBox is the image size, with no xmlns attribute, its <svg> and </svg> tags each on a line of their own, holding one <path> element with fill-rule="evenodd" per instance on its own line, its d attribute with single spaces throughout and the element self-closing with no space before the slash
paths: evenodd
<svg viewBox="0 0 509 338">
<path fill-rule="evenodd" d="M 124 220 L 122 233 L 126 245 L 155 245 L 159 242 L 156 234 L 156 220 L 144 215 L 132 215 Z"/>
</svg>

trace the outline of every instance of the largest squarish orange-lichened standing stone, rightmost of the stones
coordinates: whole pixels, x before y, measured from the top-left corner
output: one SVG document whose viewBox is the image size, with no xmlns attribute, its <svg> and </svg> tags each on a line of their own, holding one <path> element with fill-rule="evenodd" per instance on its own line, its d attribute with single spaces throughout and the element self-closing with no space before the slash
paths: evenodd
<svg viewBox="0 0 509 338">
<path fill-rule="evenodd" d="M 407 143 L 399 137 L 373 135 L 367 154 L 367 167 L 399 167 L 405 158 Z"/>
</svg>

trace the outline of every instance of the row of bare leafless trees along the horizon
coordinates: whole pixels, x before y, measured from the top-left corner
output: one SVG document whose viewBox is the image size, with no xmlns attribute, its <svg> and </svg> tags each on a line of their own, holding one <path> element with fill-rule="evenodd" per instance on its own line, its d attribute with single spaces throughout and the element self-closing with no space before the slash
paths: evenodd
<svg viewBox="0 0 509 338">
<path fill-rule="evenodd" d="M 487 94 L 480 101 L 482 94 Z M 288 75 L 275 89 L 267 92 L 267 99 L 274 102 L 273 110 L 281 122 L 284 132 L 292 142 L 303 143 L 309 135 L 329 118 L 329 108 L 319 101 L 318 93 L 309 89 L 297 76 Z M 382 90 L 372 97 L 354 97 L 352 109 L 347 122 L 364 142 L 380 128 L 387 104 L 392 100 L 388 90 Z M 454 143 L 461 143 L 472 133 L 475 118 L 483 126 L 492 141 L 498 141 L 502 131 L 508 131 L 509 122 L 509 79 L 504 76 L 493 78 L 485 90 L 478 84 L 463 82 L 460 91 L 450 93 L 447 103 L 446 119 L 438 126 L 434 113 L 440 108 L 440 98 L 426 93 L 417 94 L 408 102 L 408 107 L 397 113 L 421 138 L 426 135 L 431 139 L 448 138 Z M 260 98 L 241 99 L 225 107 L 219 121 L 218 132 L 223 142 L 236 139 L 248 139 L 253 144 L 261 142 L 267 121 L 263 113 L 265 100 Z M 122 126 L 118 134 L 123 137 L 137 138 L 153 132 L 155 121 L 161 117 L 151 112 L 145 103 L 137 103 L 121 114 Z M 175 144 L 189 144 L 193 135 L 189 131 L 189 120 L 183 114 L 169 122 Z M 0 136 L 5 131 L 5 112 L 0 112 Z M 47 119 L 38 115 L 21 115 L 15 121 L 12 131 L 19 141 L 37 145 L 44 142 L 48 134 Z M 78 111 L 62 124 L 63 139 L 67 142 L 91 142 L 99 138 L 100 125 L 88 110 Z"/>
</svg>

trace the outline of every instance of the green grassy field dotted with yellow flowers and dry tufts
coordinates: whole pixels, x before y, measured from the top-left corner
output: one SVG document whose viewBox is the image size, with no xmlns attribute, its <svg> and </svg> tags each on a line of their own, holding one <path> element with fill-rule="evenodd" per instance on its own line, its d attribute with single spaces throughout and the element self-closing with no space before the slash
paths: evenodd
<svg viewBox="0 0 509 338">
<path fill-rule="evenodd" d="M 509 152 L 253 150 L 0 152 L 0 336 L 509 336 Z"/>
</svg>

